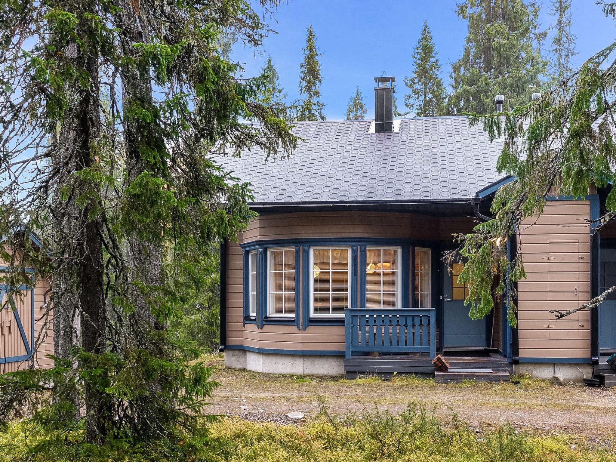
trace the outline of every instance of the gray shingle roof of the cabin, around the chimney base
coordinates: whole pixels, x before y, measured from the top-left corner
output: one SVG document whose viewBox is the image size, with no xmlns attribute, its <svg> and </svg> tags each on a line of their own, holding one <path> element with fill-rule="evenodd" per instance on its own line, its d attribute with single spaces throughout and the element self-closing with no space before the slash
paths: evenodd
<svg viewBox="0 0 616 462">
<path fill-rule="evenodd" d="M 397 133 L 368 133 L 369 120 L 298 122 L 290 158 L 260 150 L 222 164 L 251 182 L 255 204 L 429 201 L 471 198 L 503 178 L 502 141 L 468 118 L 404 119 Z"/>
</svg>

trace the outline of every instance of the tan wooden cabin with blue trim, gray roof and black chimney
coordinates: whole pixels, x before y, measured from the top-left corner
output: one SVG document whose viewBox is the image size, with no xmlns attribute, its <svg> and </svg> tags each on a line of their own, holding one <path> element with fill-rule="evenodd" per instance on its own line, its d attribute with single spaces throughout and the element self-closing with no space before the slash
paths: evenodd
<svg viewBox="0 0 616 462">
<path fill-rule="evenodd" d="M 556 320 L 616 283 L 616 227 L 593 232 L 606 191 L 549 197 L 508 239 L 522 252 L 517 328 L 495 299 L 471 320 L 463 263 L 442 253 L 489 214 L 510 177 L 502 144 L 468 118 L 392 120 L 393 78 L 375 78 L 374 121 L 296 123 L 288 159 L 259 150 L 224 166 L 254 190 L 259 215 L 221 257 L 221 351 L 230 368 L 347 376 L 419 373 L 442 352 L 464 378 L 556 373 L 581 381 L 616 349 L 616 305 Z M 519 245 L 518 245 L 519 244 Z M 471 372 L 468 372 L 471 370 Z M 460 376 L 458 376 L 459 378 Z"/>
</svg>

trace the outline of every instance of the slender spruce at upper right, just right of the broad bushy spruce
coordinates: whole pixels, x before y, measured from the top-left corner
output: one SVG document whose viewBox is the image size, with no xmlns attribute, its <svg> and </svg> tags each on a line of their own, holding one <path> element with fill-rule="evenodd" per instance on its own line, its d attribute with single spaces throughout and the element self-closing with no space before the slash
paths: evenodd
<svg viewBox="0 0 616 462">
<path fill-rule="evenodd" d="M 550 52 L 550 86 L 557 86 L 562 80 L 573 73 L 571 59 L 577 55 L 575 51 L 575 34 L 571 31 L 571 0 L 553 0 L 550 15 L 556 17 L 552 29 Z"/>
</svg>

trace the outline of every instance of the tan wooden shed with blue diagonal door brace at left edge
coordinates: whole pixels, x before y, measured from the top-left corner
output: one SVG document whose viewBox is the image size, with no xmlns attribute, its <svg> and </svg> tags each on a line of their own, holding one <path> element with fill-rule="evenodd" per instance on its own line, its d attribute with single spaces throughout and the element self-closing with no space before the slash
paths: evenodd
<svg viewBox="0 0 616 462">
<path fill-rule="evenodd" d="M 30 239 L 40 247 L 36 236 Z M 54 354 L 53 321 L 47 313 L 49 280 L 36 279 L 34 269 L 26 268 L 32 283 L 15 291 L 2 279 L 10 264 L 0 257 L 0 374 L 52 367 L 54 361 L 48 356 Z"/>
</svg>

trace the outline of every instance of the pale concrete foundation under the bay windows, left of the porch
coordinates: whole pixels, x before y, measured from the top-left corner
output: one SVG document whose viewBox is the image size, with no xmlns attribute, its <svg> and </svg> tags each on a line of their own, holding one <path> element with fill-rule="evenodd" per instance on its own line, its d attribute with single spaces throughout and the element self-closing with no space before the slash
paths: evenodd
<svg viewBox="0 0 616 462">
<path fill-rule="evenodd" d="M 225 350 L 225 367 L 269 374 L 342 375 L 343 356 L 288 355 Z"/>
</svg>

